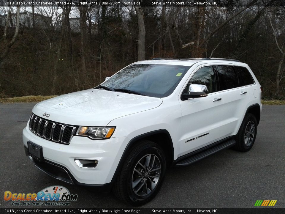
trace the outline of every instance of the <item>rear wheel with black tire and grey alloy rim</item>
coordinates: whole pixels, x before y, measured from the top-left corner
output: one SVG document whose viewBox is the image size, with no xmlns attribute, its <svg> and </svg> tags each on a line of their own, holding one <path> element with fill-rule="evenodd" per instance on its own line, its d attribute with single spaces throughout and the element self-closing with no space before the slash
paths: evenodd
<svg viewBox="0 0 285 214">
<path fill-rule="evenodd" d="M 238 150 L 240 152 L 249 151 L 254 144 L 256 134 L 257 134 L 257 119 L 253 114 L 246 114 L 238 131 L 235 150 Z"/>
</svg>

